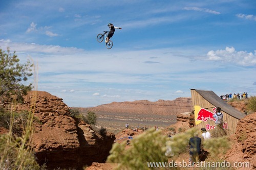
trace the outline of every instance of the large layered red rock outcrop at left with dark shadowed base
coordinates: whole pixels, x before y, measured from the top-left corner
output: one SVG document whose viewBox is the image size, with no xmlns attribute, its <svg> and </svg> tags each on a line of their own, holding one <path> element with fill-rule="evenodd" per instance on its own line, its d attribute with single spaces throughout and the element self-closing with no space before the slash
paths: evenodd
<svg viewBox="0 0 256 170">
<path fill-rule="evenodd" d="M 101 136 L 95 127 L 72 118 L 62 99 L 45 91 L 30 91 L 17 110 L 31 108 L 36 117 L 31 145 L 39 164 L 46 163 L 49 169 L 80 169 L 108 157 L 114 134 Z"/>
</svg>

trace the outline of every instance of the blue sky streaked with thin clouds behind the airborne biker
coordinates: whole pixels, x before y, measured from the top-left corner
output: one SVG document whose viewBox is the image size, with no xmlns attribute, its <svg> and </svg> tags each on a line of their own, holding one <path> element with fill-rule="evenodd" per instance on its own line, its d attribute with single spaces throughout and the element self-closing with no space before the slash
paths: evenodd
<svg viewBox="0 0 256 170">
<path fill-rule="evenodd" d="M 96 36 L 116 30 L 107 50 Z M 256 1 L 1 1 L 0 48 L 70 107 L 256 95 Z M 33 81 L 33 78 L 30 79 Z"/>
</svg>

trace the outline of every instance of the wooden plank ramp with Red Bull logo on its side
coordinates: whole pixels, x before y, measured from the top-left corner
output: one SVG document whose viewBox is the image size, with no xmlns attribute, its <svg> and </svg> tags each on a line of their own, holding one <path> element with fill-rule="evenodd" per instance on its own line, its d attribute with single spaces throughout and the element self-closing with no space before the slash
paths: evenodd
<svg viewBox="0 0 256 170">
<path fill-rule="evenodd" d="M 196 127 L 198 127 L 199 130 L 201 128 L 205 128 L 207 131 L 210 131 L 215 128 L 215 121 L 212 120 L 212 117 L 210 118 L 208 115 L 212 116 L 211 113 L 214 113 L 213 109 L 215 107 L 220 107 L 222 110 L 221 112 L 223 113 L 223 127 L 227 129 L 227 134 L 230 135 L 236 132 L 237 123 L 241 118 L 246 116 L 244 113 L 228 105 L 213 91 L 198 89 L 190 89 L 190 91 L 192 103 L 195 109 L 194 115 Z M 202 108 L 204 111 L 201 111 L 201 113 L 196 113 L 196 111 L 198 111 L 198 108 Z M 208 110 L 209 112 L 205 110 Z M 205 113 L 206 115 L 204 115 Z M 202 118 L 199 117 L 199 114 L 202 114 L 200 116 L 205 118 L 203 118 L 202 120 Z"/>
</svg>

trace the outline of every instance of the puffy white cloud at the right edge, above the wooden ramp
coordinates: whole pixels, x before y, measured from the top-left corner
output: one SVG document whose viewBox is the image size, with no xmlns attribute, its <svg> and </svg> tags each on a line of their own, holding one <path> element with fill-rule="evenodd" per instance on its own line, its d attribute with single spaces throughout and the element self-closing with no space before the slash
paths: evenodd
<svg viewBox="0 0 256 170">
<path fill-rule="evenodd" d="M 242 66 L 253 66 L 256 65 L 256 51 L 254 51 L 254 54 L 246 51 L 237 52 L 234 47 L 226 47 L 225 50 L 209 51 L 207 59 Z"/>
</svg>

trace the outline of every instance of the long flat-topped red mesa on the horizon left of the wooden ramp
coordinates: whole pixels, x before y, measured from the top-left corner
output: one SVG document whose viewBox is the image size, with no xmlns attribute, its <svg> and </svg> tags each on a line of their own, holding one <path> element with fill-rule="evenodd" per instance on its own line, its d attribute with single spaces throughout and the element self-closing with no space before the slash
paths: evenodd
<svg viewBox="0 0 256 170">
<path fill-rule="evenodd" d="M 134 102 L 112 102 L 97 107 L 87 108 L 97 113 L 129 113 L 146 115 L 177 115 L 192 111 L 191 98 L 177 98 L 173 101 L 159 100 L 150 102 L 147 100 Z"/>
</svg>

